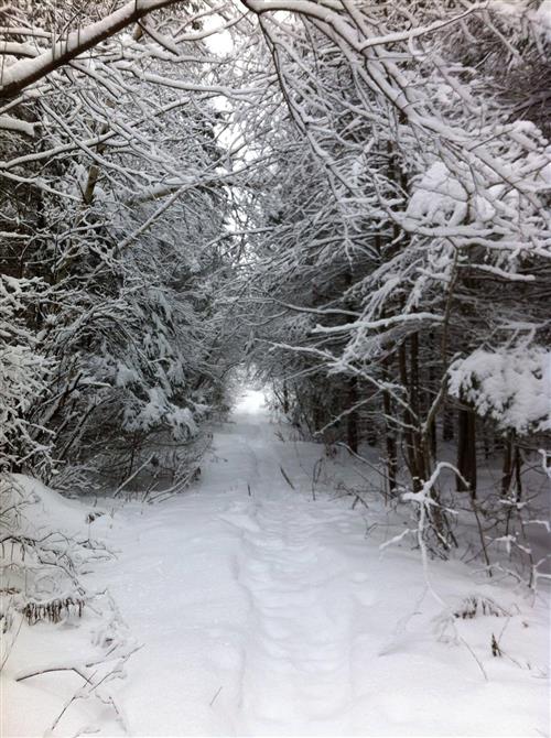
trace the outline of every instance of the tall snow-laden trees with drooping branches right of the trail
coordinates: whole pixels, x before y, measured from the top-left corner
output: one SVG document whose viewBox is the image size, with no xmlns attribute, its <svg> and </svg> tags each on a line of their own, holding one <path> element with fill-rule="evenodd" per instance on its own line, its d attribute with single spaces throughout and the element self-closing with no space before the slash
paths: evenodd
<svg viewBox="0 0 551 738">
<path fill-rule="evenodd" d="M 543 68 L 549 45 L 543 14 L 538 3 L 412 3 L 408 13 L 391 2 L 369 11 L 352 3 L 246 4 L 259 17 L 295 126 L 289 142 L 298 141 L 299 161 L 306 156 L 300 141 L 309 146 L 327 182 L 320 184 L 324 177 L 312 175 L 312 167 L 304 176 L 301 164 L 283 154 L 279 175 L 278 165 L 271 172 L 280 189 L 270 192 L 264 207 L 268 213 L 270 199 L 281 199 L 283 226 L 264 218 L 269 235 L 251 237 L 267 243 L 257 282 L 273 305 L 260 328 L 261 340 L 276 347 L 271 370 L 283 363 L 285 379 L 311 378 L 303 397 L 322 388 L 335 421 L 352 415 L 356 403 L 375 408 L 386 426 L 392 485 L 398 445 L 421 489 L 436 460 L 436 431 L 443 427 L 450 438 L 457 413 L 457 486 L 474 497 L 476 430 L 499 435 L 507 413 L 496 416 L 495 400 L 491 426 L 489 400 L 486 410 L 479 401 L 482 379 L 469 367 L 483 355 L 510 362 L 521 351 L 542 356 L 549 335 L 541 315 L 551 152 L 534 124 L 542 122 L 534 69 Z M 485 59 L 477 68 L 473 39 Z M 533 96 L 527 90 L 520 107 L 497 72 L 499 47 L 511 79 L 532 79 Z M 327 236 L 335 236 L 331 258 L 318 258 Z M 262 246 L 257 251 L 262 254 Z M 335 263 L 349 264 L 348 282 L 339 283 Z M 311 285 L 325 279 L 331 295 L 315 304 Z M 497 363 L 488 360 L 496 371 Z M 339 377 L 342 387 L 355 379 L 356 393 L 342 392 L 334 406 L 321 371 Z M 532 376 L 538 380 L 541 370 Z M 497 387 L 499 378 L 493 379 Z M 515 393 L 506 392 L 510 406 Z M 543 393 L 533 402 L 545 419 Z M 435 485 L 431 495 L 437 498 Z"/>
</svg>

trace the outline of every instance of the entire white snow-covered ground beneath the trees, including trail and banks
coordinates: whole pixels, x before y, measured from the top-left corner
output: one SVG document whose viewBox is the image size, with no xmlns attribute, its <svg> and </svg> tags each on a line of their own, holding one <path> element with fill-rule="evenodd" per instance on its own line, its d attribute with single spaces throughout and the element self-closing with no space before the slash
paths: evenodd
<svg viewBox="0 0 551 738">
<path fill-rule="evenodd" d="M 464 564 L 432 562 L 439 603 L 412 542 L 380 551 L 399 530 L 375 497 L 352 509 L 353 498 L 328 493 L 339 479 L 358 484 L 354 467 L 317 465 L 313 499 L 323 449 L 276 431 L 250 392 L 193 490 L 102 506 L 88 529 L 117 557 L 86 580 L 108 588 L 120 618 L 110 630 L 90 610 L 78 627 L 21 628 L 2 681 L 3 736 L 45 735 L 83 686 L 71 671 L 15 676 L 94 661 L 114 633 L 141 645 L 110 681 L 118 713 L 78 698 L 51 735 L 120 735 L 121 721 L 132 736 L 549 735 L 547 596 L 533 603 Z M 75 520 L 88 511 L 55 506 Z M 454 618 L 468 596 L 508 615 Z"/>
</svg>

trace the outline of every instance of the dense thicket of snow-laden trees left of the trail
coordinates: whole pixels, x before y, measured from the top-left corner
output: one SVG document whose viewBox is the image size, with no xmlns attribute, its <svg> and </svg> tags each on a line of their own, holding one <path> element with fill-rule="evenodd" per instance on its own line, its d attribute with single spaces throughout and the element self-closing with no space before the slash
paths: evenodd
<svg viewBox="0 0 551 738">
<path fill-rule="evenodd" d="M 35 18 L 51 34 L 62 20 Z M 184 20 L 162 23 L 175 37 Z M 169 35 L 143 21 L 13 106 L 32 123 L 8 133 L 2 265 L 48 285 L 32 327 L 55 370 L 25 412 L 63 464 L 131 474 L 151 434 L 191 442 L 234 360 L 212 361 L 227 165 L 209 98 L 224 89 L 205 46 Z"/>
</svg>

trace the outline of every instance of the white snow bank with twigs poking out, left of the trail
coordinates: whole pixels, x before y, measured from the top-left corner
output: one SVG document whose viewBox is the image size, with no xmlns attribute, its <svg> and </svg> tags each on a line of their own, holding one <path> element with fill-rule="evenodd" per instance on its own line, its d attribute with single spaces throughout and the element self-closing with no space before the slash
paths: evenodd
<svg viewBox="0 0 551 738">
<path fill-rule="evenodd" d="M 0 734 L 76 736 L 99 723 L 122 735 L 112 683 L 136 647 L 109 596 L 85 583 L 112 558 L 93 538 L 111 517 L 23 475 L 3 475 L 0 492 Z"/>
</svg>

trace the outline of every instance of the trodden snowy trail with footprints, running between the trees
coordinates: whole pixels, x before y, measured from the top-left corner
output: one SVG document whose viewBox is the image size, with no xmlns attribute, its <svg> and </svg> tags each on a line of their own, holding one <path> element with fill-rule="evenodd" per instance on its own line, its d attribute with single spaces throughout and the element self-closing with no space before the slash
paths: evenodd
<svg viewBox="0 0 551 738">
<path fill-rule="evenodd" d="M 216 435 L 194 492 L 137 515 L 110 579 L 147 644 L 123 695 L 145 735 L 345 728 L 354 605 L 366 600 L 368 567 L 350 567 L 344 551 L 361 545 L 361 520 L 312 499 L 320 447 L 301 444 L 299 457 L 256 401 L 246 398 Z M 148 688 L 153 665 L 162 691 Z"/>
</svg>

